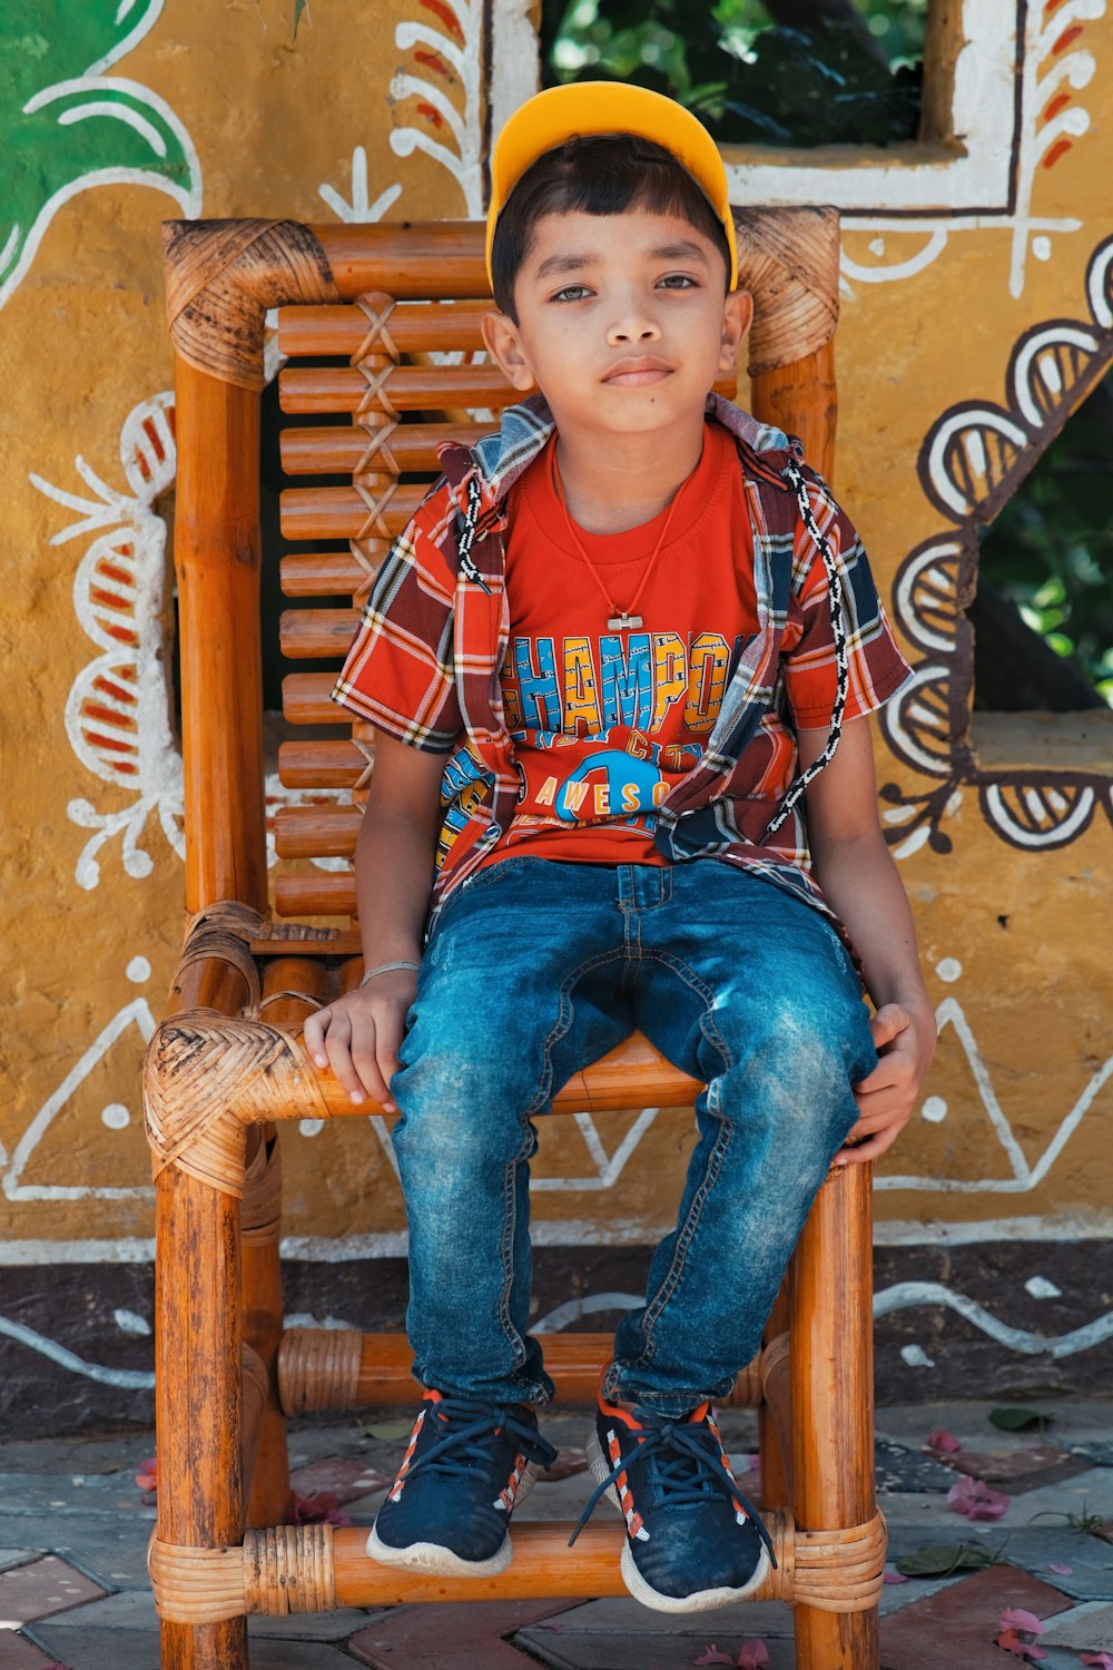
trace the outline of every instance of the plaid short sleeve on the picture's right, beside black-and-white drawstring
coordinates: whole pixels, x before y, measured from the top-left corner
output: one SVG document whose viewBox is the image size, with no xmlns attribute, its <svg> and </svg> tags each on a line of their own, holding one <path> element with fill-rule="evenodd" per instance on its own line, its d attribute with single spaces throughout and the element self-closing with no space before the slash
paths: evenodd
<svg viewBox="0 0 1113 1670">
<path fill-rule="evenodd" d="M 828 488 L 811 478 L 811 508 L 833 546 L 843 576 L 843 618 L 848 648 L 844 718 L 883 706 L 909 676 L 896 648 L 878 588 L 858 533 Z M 793 546 L 793 605 L 784 633 L 784 688 L 798 730 L 821 730 L 831 721 L 836 695 L 831 590 L 823 556 L 798 524 Z"/>
</svg>

